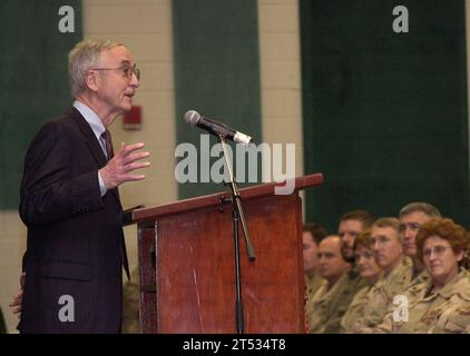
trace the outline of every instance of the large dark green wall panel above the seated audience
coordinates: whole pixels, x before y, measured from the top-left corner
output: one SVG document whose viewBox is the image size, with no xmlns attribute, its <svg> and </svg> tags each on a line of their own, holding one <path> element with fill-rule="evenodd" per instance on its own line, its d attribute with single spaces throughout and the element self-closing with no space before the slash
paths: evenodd
<svg viewBox="0 0 470 356">
<path fill-rule="evenodd" d="M 395 6 L 409 33 L 395 33 Z M 460 1 L 301 0 L 306 218 L 337 228 L 415 200 L 470 225 L 466 19 Z"/>
</svg>

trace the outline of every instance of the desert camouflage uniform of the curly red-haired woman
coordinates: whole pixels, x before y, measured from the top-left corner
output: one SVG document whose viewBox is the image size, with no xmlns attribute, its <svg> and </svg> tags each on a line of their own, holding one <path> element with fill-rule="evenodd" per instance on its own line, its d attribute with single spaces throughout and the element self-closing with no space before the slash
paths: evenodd
<svg viewBox="0 0 470 356">
<path fill-rule="evenodd" d="M 374 332 L 400 334 L 445 334 L 470 332 L 470 277 L 462 269 L 441 290 L 427 296 L 432 280 L 409 289 L 408 322 L 394 322 L 389 312 Z"/>
</svg>

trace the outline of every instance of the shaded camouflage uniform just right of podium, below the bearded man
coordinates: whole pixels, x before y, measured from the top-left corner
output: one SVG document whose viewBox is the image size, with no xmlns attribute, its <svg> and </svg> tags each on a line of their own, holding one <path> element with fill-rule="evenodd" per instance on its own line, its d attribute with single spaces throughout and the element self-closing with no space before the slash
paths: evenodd
<svg viewBox="0 0 470 356">
<path fill-rule="evenodd" d="M 365 280 L 359 276 L 356 270 L 351 270 L 330 289 L 327 284 L 320 287 L 311 300 L 312 314 L 309 318 L 309 333 L 340 333 L 341 319 L 349 305 L 356 293 L 365 286 Z"/>
</svg>

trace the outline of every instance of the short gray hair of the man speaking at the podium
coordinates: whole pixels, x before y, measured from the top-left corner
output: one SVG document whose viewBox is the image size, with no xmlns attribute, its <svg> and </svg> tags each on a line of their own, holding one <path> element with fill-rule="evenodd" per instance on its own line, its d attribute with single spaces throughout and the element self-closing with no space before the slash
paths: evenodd
<svg viewBox="0 0 470 356">
<path fill-rule="evenodd" d="M 69 80 L 74 98 L 87 88 L 85 75 L 90 68 L 99 67 L 101 52 L 118 46 L 124 44 L 116 40 L 88 39 L 74 47 L 69 52 Z"/>
</svg>

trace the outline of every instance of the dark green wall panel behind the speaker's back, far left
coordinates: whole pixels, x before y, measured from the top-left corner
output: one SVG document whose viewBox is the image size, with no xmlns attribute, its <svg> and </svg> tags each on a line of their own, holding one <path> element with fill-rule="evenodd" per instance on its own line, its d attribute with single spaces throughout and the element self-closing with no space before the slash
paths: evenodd
<svg viewBox="0 0 470 356">
<path fill-rule="evenodd" d="M 58 10 L 75 9 L 75 33 Z M 81 1 L 0 1 L 0 209 L 17 209 L 25 154 L 38 128 L 71 103 L 67 53 L 81 39 Z"/>
</svg>

